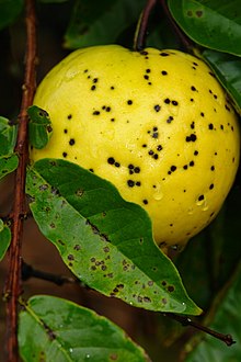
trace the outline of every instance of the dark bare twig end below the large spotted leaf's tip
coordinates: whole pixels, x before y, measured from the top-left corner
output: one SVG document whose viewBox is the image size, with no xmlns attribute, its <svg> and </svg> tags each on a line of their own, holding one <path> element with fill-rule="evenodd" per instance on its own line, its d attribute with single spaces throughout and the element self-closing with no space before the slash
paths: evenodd
<svg viewBox="0 0 241 362">
<path fill-rule="evenodd" d="M 195 329 L 202 330 L 205 333 L 210 335 L 210 336 L 219 339 L 220 341 L 225 342 L 228 347 L 230 347 L 230 346 L 232 346 L 232 344 L 236 343 L 236 341 L 233 340 L 233 338 L 232 338 L 231 335 L 219 333 L 216 330 L 213 330 L 213 329 L 210 329 L 208 327 L 205 327 L 205 326 L 199 325 L 196 321 L 193 321 L 188 317 L 180 316 L 180 315 L 176 315 L 176 314 L 173 314 L 173 313 L 165 313 L 164 315 L 167 317 L 171 318 L 171 319 L 174 319 L 174 320 L 181 323 L 182 326 L 185 326 L 185 327 L 186 326 L 190 326 L 190 327 L 193 327 Z"/>
</svg>

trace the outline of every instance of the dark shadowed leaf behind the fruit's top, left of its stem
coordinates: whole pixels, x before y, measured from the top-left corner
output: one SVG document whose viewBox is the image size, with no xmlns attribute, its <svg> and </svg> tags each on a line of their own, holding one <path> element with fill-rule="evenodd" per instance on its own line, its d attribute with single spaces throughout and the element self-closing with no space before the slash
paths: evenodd
<svg viewBox="0 0 241 362">
<path fill-rule="evenodd" d="M 78 0 L 68 30 L 65 47 L 116 43 L 117 37 L 136 23 L 145 0 Z M 133 35 L 134 37 L 134 35 Z"/>
</svg>

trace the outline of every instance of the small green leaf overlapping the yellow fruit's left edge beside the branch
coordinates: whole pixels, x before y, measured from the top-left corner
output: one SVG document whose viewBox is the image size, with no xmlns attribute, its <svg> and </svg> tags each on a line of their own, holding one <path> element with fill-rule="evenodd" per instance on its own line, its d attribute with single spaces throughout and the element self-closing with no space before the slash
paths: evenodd
<svg viewBox="0 0 241 362">
<path fill-rule="evenodd" d="M 27 109 L 27 114 L 30 116 L 30 144 L 37 149 L 44 148 L 53 134 L 49 115 L 46 111 L 36 105 L 30 106 Z"/>
</svg>

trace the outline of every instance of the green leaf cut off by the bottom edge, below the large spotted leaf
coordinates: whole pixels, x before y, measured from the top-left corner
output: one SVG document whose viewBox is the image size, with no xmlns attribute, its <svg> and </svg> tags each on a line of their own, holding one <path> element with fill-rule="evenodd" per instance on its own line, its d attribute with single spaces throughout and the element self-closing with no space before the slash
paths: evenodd
<svg viewBox="0 0 241 362">
<path fill-rule="evenodd" d="M 108 319 L 47 295 L 33 296 L 20 313 L 19 344 L 26 362 L 150 361 Z"/>
</svg>

